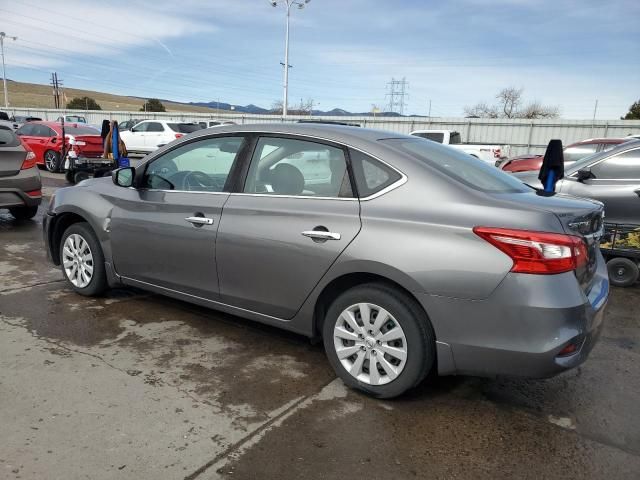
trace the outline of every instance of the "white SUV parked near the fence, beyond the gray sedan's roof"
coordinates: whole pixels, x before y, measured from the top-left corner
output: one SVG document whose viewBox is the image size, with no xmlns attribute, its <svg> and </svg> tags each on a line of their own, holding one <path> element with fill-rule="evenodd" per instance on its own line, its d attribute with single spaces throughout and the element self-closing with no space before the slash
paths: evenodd
<svg viewBox="0 0 640 480">
<path fill-rule="evenodd" d="M 134 125 L 131 130 L 120 132 L 120 138 L 129 152 L 149 153 L 201 128 L 195 123 L 143 120 Z"/>
</svg>

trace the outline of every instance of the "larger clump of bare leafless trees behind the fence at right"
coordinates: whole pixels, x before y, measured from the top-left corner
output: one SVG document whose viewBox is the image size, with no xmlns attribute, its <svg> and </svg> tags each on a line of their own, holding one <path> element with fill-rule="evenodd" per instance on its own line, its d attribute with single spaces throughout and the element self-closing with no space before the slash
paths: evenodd
<svg viewBox="0 0 640 480">
<path fill-rule="evenodd" d="M 496 105 L 481 102 L 473 107 L 465 107 L 467 117 L 480 118 L 557 118 L 560 110 L 556 106 L 542 105 L 539 101 L 523 106 L 522 88 L 503 88 L 496 95 Z"/>
</svg>

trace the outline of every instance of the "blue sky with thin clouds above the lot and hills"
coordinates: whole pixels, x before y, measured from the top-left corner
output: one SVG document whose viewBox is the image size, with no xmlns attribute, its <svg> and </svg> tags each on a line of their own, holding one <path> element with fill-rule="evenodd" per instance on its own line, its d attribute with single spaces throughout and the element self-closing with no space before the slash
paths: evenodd
<svg viewBox="0 0 640 480">
<path fill-rule="evenodd" d="M 0 0 L 7 77 L 182 102 L 282 100 L 286 2 Z M 311 0 L 291 9 L 289 104 L 460 117 L 505 87 L 561 117 L 640 99 L 638 0 Z M 290 107 L 291 108 L 291 107 Z"/>
</svg>

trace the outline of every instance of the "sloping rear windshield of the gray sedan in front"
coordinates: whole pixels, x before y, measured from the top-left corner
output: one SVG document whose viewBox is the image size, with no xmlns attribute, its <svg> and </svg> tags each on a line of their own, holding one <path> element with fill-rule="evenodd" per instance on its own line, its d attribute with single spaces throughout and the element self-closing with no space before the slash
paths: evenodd
<svg viewBox="0 0 640 480">
<path fill-rule="evenodd" d="M 493 193 L 531 191 L 508 173 L 453 148 L 418 138 L 391 138 L 381 141 L 476 190 Z"/>
</svg>

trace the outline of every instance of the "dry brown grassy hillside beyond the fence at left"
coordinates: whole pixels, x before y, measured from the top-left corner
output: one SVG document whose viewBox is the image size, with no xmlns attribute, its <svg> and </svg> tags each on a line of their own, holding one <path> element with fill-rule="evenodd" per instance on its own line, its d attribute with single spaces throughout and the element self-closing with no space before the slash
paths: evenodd
<svg viewBox="0 0 640 480">
<path fill-rule="evenodd" d="M 7 88 L 11 107 L 54 108 L 52 88 L 49 85 L 9 81 L 7 82 Z M 74 97 L 86 96 L 94 98 L 103 110 L 111 111 L 138 111 L 144 104 L 144 100 L 141 98 L 124 97 L 91 90 L 78 90 L 76 88 L 65 88 L 65 95 L 67 101 L 71 101 Z M 215 108 L 196 107 L 182 103 L 162 103 L 168 112 L 215 113 L 217 111 Z M 4 105 L 2 88 L 0 88 L 0 105 Z"/>
</svg>

